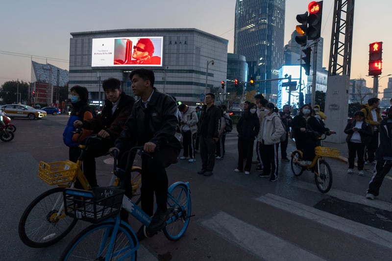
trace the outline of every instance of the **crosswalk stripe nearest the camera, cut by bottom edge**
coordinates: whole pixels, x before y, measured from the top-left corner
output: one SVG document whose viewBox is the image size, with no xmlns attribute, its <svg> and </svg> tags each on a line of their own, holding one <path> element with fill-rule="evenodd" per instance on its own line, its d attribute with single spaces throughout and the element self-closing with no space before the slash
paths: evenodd
<svg viewBox="0 0 392 261">
<path fill-rule="evenodd" d="M 323 260 L 225 212 L 205 217 L 200 224 L 263 260 Z"/>
</svg>

